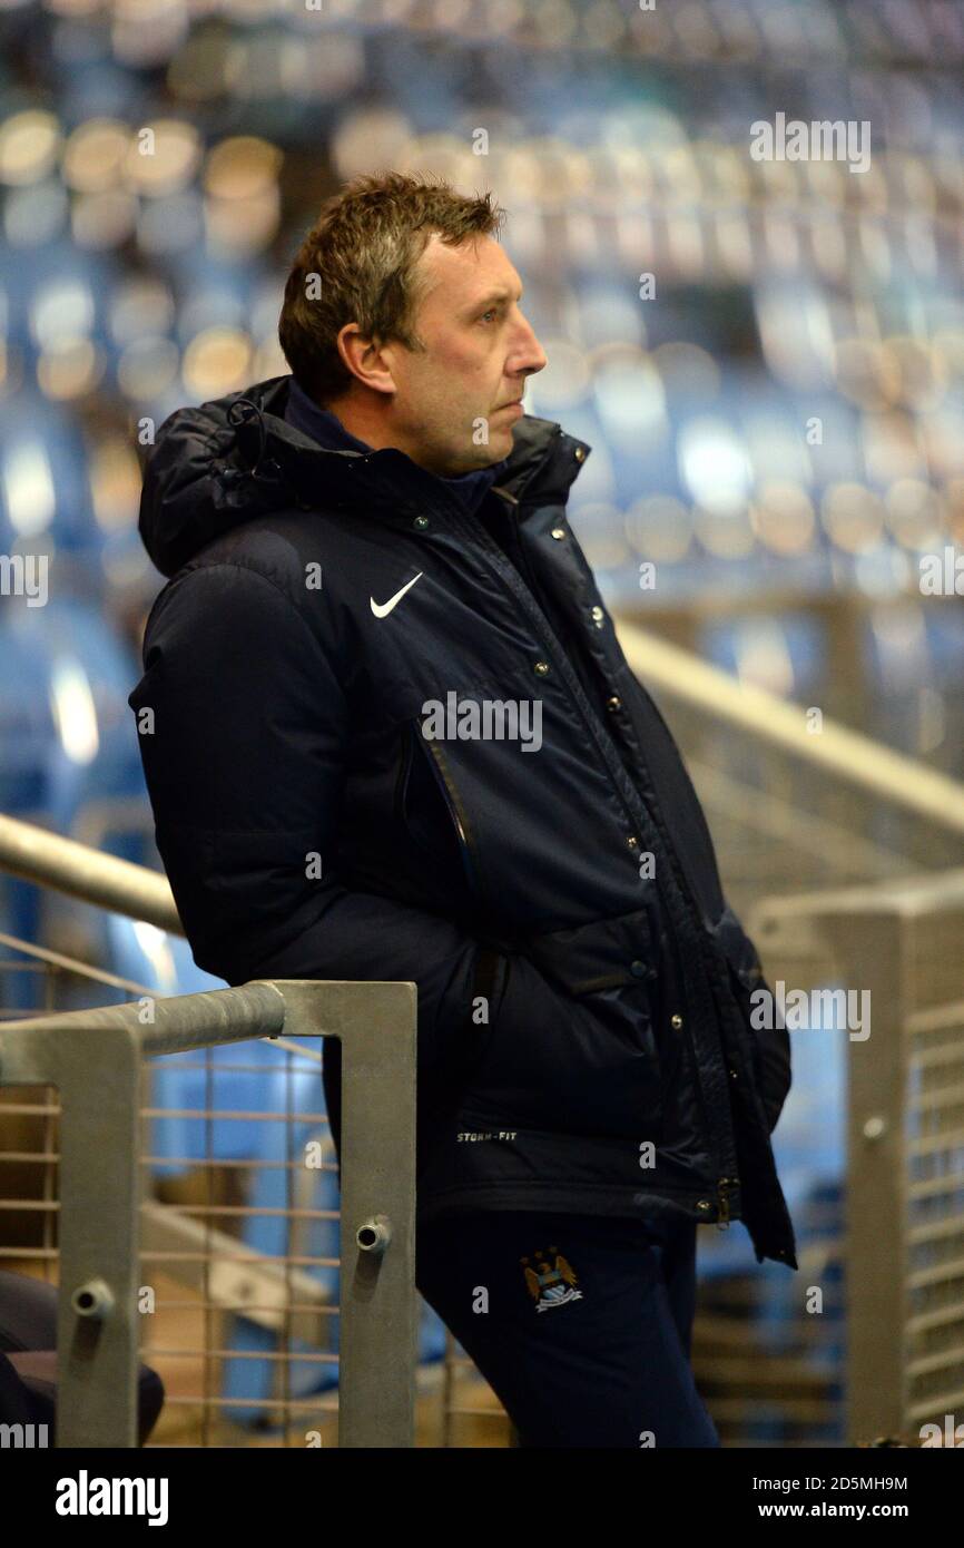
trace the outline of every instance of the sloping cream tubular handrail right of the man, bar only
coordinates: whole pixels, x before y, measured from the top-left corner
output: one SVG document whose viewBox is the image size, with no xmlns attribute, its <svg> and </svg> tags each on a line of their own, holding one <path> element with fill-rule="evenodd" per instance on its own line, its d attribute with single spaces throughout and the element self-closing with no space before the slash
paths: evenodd
<svg viewBox="0 0 964 1548">
<path fill-rule="evenodd" d="M 806 734 L 806 709 L 672 646 L 625 619 L 616 633 L 630 669 L 656 690 L 761 743 L 811 763 L 843 783 L 873 793 L 904 811 L 964 833 L 964 783 L 916 759 L 848 731 L 823 715 L 820 735 Z"/>
</svg>

